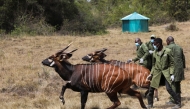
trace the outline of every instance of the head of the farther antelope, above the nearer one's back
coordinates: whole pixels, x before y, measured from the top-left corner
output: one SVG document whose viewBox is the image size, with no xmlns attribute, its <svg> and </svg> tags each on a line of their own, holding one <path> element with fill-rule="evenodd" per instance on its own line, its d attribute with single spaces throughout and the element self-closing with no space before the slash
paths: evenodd
<svg viewBox="0 0 190 109">
<path fill-rule="evenodd" d="M 107 50 L 106 48 L 103 48 L 102 50 L 89 53 L 86 56 L 84 56 L 82 60 L 87 62 L 100 62 L 100 60 L 104 59 L 107 56 L 104 53 L 106 50 Z"/>
</svg>

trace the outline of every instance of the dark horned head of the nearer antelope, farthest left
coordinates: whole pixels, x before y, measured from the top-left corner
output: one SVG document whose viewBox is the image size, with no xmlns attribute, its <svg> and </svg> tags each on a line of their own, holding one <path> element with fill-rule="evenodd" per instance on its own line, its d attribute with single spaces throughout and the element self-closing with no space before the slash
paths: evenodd
<svg viewBox="0 0 190 109">
<path fill-rule="evenodd" d="M 55 53 L 54 55 L 51 55 L 50 57 L 44 59 L 42 61 L 42 64 L 48 67 L 54 67 L 58 62 L 61 63 L 64 61 L 68 63 L 68 59 L 72 57 L 72 53 L 77 50 L 75 49 L 70 52 L 65 52 L 65 50 L 69 48 L 69 46 L 70 44 L 66 48 Z"/>
</svg>

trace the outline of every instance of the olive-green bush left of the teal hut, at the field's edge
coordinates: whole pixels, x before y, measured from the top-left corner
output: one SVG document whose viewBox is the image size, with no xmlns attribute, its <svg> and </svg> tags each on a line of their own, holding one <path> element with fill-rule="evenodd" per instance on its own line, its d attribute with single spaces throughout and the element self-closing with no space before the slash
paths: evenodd
<svg viewBox="0 0 190 109">
<path fill-rule="evenodd" d="M 91 7 L 87 2 L 76 2 L 79 12 L 74 19 L 66 19 L 59 33 L 71 35 L 91 35 L 105 33 L 105 26 L 102 18 L 92 14 Z"/>
</svg>

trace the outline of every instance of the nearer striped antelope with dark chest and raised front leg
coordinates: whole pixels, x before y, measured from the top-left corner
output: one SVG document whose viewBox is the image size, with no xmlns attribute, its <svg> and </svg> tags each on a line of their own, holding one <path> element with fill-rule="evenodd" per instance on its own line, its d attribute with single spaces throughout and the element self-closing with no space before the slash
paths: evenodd
<svg viewBox="0 0 190 109">
<path fill-rule="evenodd" d="M 115 109 L 121 103 L 117 97 L 117 93 L 129 94 L 136 96 L 142 108 L 146 108 L 140 92 L 130 88 L 132 79 L 128 72 L 111 64 L 76 64 L 72 65 L 68 59 L 72 56 L 71 52 L 65 52 L 68 48 L 48 57 L 42 61 L 43 65 L 52 67 L 67 81 L 62 87 L 60 98 L 64 102 L 63 94 L 66 88 L 81 93 L 81 109 L 85 108 L 88 93 L 105 92 L 113 105 L 108 109 Z"/>
</svg>

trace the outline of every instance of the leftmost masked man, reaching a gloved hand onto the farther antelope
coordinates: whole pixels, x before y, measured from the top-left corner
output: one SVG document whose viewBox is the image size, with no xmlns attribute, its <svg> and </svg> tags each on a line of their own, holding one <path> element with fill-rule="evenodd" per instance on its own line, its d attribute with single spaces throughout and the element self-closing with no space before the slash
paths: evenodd
<svg viewBox="0 0 190 109">
<path fill-rule="evenodd" d="M 140 38 L 135 39 L 135 45 L 137 46 L 137 57 L 135 57 L 134 59 L 129 59 L 127 63 L 130 63 L 132 61 L 139 61 L 140 65 L 143 65 L 144 67 L 151 70 L 151 57 L 148 51 L 148 47 L 146 46 L 146 44 L 143 44 L 141 42 Z"/>
</svg>

